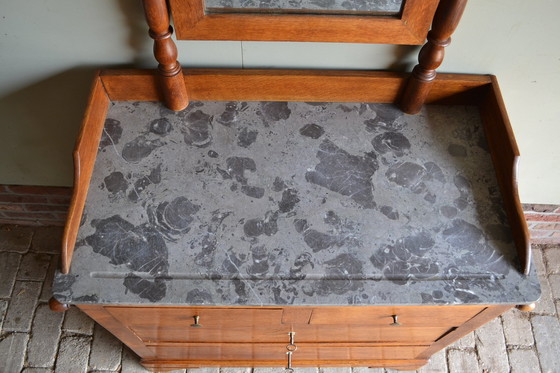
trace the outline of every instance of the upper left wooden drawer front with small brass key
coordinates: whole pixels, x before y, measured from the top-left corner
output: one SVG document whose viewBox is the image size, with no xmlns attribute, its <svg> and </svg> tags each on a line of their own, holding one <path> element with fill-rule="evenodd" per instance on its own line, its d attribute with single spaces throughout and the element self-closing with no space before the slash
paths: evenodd
<svg viewBox="0 0 560 373">
<path fill-rule="evenodd" d="M 106 307 L 144 342 L 277 342 L 289 325 L 282 309 Z M 195 322 L 198 316 L 198 322 Z"/>
</svg>

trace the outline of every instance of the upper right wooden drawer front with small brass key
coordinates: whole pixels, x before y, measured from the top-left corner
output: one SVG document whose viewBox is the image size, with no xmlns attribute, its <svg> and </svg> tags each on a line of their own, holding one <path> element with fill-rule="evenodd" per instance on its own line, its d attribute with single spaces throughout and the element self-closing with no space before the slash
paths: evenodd
<svg viewBox="0 0 560 373">
<path fill-rule="evenodd" d="M 390 326 L 397 316 L 401 326 L 459 326 L 484 307 L 481 306 L 409 306 L 409 307 L 333 307 L 315 308 L 312 325 Z"/>
</svg>

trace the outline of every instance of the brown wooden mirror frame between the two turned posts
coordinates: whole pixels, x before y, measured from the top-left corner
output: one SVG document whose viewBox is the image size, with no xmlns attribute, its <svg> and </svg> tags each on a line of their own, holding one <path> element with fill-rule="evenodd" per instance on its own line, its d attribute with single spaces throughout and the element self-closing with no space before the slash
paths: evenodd
<svg viewBox="0 0 560 373">
<path fill-rule="evenodd" d="M 206 14 L 204 0 L 168 0 L 179 40 L 301 41 L 420 45 L 439 0 L 405 0 L 398 16 Z"/>
</svg>

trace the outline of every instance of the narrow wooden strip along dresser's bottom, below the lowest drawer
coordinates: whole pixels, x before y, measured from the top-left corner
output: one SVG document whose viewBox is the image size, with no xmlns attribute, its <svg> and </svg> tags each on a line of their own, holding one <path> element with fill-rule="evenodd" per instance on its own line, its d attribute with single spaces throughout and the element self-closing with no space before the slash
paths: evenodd
<svg viewBox="0 0 560 373">
<path fill-rule="evenodd" d="M 425 365 L 428 359 L 402 359 L 402 360 L 329 360 L 321 362 L 317 360 L 300 360 L 294 362 L 294 367 L 385 367 L 401 370 L 416 370 Z M 223 366 L 223 367 L 283 367 L 286 365 L 285 360 L 151 360 L 143 359 L 140 363 L 148 369 L 181 369 L 181 368 L 198 368 L 207 366 Z"/>
</svg>

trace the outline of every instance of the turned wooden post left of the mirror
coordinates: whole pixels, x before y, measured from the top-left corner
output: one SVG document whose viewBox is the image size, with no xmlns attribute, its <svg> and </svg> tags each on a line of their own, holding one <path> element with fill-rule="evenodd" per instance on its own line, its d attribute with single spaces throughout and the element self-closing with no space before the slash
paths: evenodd
<svg viewBox="0 0 560 373">
<path fill-rule="evenodd" d="M 163 102 L 171 110 L 183 110 L 189 104 L 187 88 L 177 61 L 177 47 L 171 39 L 173 28 L 165 0 L 143 0 L 144 13 L 154 39 L 154 56 L 159 62 L 158 84 Z"/>
</svg>

